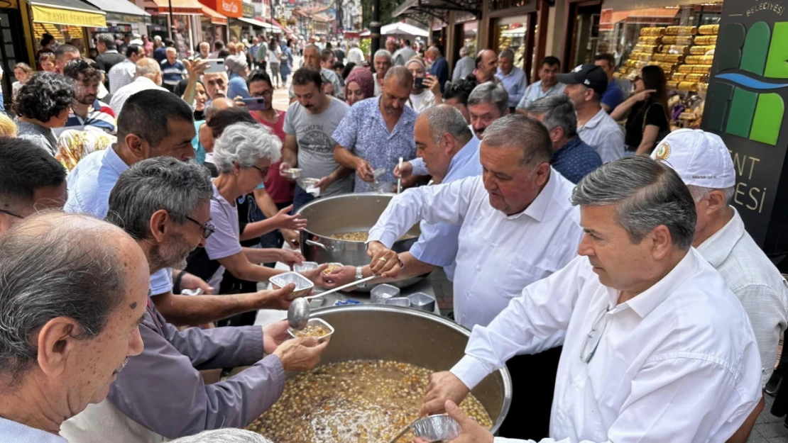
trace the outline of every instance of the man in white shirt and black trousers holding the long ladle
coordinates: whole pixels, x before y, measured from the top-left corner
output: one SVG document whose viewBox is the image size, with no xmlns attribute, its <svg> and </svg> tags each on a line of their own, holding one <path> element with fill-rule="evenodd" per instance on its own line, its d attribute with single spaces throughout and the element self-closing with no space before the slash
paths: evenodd
<svg viewBox="0 0 788 443">
<path fill-rule="evenodd" d="M 582 238 L 579 211 L 570 203 L 574 185 L 550 167 L 552 145 L 539 122 L 515 115 L 496 120 L 484 132 L 479 157 L 481 177 L 393 198 L 370 230 L 368 245 L 371 271 L 392 277 L 400 264 L 390 248 L 415 223 L 460 225 L 454 317 L 468 328 L 486 326 L 523 286 L 563 268 Z M 542 350 L 559 345 L 555 340 Z M 530 419 L 513 414 L 501 433 L 547 434 L 559 355 L 559 349 L 549 349 L 508 362 L 515 389 L 511 411 Z"/>
</svg>

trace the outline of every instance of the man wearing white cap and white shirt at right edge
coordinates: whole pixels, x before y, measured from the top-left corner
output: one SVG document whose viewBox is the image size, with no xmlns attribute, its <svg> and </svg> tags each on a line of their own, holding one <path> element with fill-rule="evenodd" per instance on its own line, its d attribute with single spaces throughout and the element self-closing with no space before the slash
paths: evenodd
<svg viewBox="0 0 788 443">
<path fill-rule="evenodd" d="M 699 129 L 671 132 L 652 158 L 678 172 L 695 201 L 697 224 L 693 247 L 723 275 L 753 323 L 761 360 L 761 386 L 775 368 L 777 345 L 788 323 L 788 283 L 745 231 L 730 205 L 736 174 L 725 142 Z M 764 400 L 750 418 L 754 421 Z"/>
</svg>

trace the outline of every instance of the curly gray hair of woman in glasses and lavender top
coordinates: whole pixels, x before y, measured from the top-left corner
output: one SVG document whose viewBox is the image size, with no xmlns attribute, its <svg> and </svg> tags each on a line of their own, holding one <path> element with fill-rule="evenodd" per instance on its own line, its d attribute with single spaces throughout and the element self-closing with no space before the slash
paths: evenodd
<svg viewBox="0 0 788 443">
<path fill-rule="evenodd" d="M 260 159 L 275 163 L 281 157 L 281 147 L 279 138 L 262 124 L 231 124 L 214 143 L 214 164 L 220 174 L 229 174 L 236 163 L 244 168 Z"/>
</svg>

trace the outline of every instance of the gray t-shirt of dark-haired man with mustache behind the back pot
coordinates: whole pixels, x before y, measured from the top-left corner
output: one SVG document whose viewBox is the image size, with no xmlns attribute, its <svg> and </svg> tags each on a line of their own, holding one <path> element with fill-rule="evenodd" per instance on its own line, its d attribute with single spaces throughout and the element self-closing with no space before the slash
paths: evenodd
<svg viewBox="0 0 788 443">
<path fill-rule="evenodd" d="M 336 142 L 332 134 L 348 113 L 348 106 L 336 98 L 319 114 L 307 112 L 299 102 L 294 102 L 284 114 L 284 133 L 296 135 L 298 167 L 305 179 L 322 179 L 334 172 L 339 164 L 334 160 Z M 353 191 L 353 177 L 345 177 L 329 186 L 321 196 L 347 194 Z"/>
</svg>

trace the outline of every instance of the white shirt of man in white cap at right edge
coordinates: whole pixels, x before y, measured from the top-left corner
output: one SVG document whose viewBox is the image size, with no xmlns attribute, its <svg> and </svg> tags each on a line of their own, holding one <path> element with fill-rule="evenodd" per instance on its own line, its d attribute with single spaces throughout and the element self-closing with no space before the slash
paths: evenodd
<svg viewBox="0 0 788 443">
<path fill-rule="evenodd" d="M 775 370 L 777 346 L 788 323 L 786 279 L 745 231 L 742 216 L 734 218 L 697 247 L 697 252 L 723 276 L 742 302 L 758 342 L 765 386 Z"/>
</svg>

